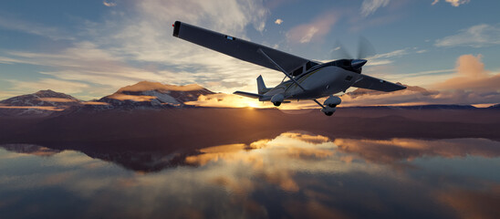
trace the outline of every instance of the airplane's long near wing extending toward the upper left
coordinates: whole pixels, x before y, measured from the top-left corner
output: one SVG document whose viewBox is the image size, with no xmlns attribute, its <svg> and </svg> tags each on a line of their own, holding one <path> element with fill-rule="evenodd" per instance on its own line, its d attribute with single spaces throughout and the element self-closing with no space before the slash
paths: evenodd
<svg viewBox="0 0 500 219">
<path fill-rule="evenodd" d="M 280 69 L 276 68 L 276 65 L 271 63 L 267 57 L 258 52 L 260 49 L 292 76 L 297 76 L 302 73 L 303 67 L 308 69 L 318 65 L 317 62 L 303 57 L 297 57 L 274 48 L 258 45 L 244 39 L 224 35 L 202 27 L 182 23 L 180 21 L 176 21 L 173 25 L 173 36 L 182 38 L 199 46 L 224 53 L 225 55 L 239 58 L 255 65 L 280 71 Z"/>
</svg>

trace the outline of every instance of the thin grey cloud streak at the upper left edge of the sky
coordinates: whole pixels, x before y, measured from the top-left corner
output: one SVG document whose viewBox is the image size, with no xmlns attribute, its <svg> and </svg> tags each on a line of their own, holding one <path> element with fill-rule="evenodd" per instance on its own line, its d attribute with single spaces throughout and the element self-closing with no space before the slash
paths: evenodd
<svg viewBox="0 0 500 219">
<path fill-rule="evenodd" d="M 6 29 L 25 32 L 32 35 L 48 37 L 52 40 L 74 40 L 75 37 L 61 31 L 57 27 L 44 26 L 42 24 L 26 22 L 14 17 L 0 16 L 0 26 Z"/>
</svg>

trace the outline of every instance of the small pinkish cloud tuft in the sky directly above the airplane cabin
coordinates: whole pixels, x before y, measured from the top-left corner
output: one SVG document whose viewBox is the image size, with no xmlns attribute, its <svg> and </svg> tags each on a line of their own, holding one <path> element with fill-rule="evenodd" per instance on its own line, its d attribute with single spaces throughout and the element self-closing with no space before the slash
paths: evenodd
<svg viewBox="0 0 500 219">
<path fill-rule="evenodd" d="M 295 26 L 286 33 L 286 39 L 292 43 L 309 43 L 311 41 L 323 40 L 331 27 L 338 21 L 336 13 L 328 12 L 318 16 L 308 24 Z"/>
</svg>

